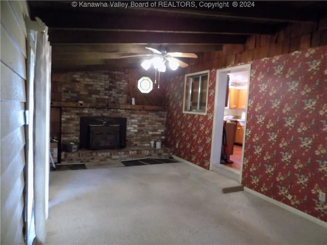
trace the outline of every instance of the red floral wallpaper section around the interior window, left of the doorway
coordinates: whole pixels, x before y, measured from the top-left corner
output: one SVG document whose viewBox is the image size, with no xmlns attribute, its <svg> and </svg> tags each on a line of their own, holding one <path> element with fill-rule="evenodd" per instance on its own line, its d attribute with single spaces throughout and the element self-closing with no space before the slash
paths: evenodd
<svg viewBox="0 0 327 245">
<path fill-rule="evenodd" d="M 185 114 L 183 111 L 184 76 L 167 81 L 166 144 L 173 154 L 209 169 L 215 100 L 216 70 L 209 74 L 206 115 Z"/>
</svg>

